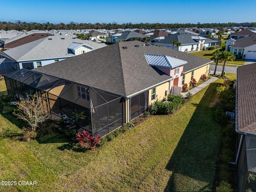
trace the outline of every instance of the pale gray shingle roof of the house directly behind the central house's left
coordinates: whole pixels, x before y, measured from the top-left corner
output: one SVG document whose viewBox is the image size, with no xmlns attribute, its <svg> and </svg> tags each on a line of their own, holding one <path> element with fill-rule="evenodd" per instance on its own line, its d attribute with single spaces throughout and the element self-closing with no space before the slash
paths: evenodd
<svg viewBox="0 0 256 192">
<path fill-rule="evenodd" d="M 10 50 L 4 51 L 16 61 L 42 60 L 49 58 L 67 58 L 74 56 L 68 54 L 68 47 L 73 43 L 83 43 L 95 49 L 105 47 L 104 43 L 94 43 L 89 40 L 80 40 L 70 36 L 49 36 Z"/>
</svg>

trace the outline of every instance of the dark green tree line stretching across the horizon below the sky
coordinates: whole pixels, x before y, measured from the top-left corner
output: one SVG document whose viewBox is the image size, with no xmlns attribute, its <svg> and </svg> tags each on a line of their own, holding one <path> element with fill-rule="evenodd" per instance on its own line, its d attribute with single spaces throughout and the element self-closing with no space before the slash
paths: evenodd
<svg viewBox="0 0 256 192">
<path fill-rule="evenodd" d="M 139 23 L 139 24 L 132 24 L 130 23 L 123 23 L 123 24 L 117 24 L 116 22 L 112 23 L 74 23 L 69 22 L 68 24 L 64 24 L 62 22 L 58 24 L 53 23 L 37 23 L 37 22 L 0 22 L 0 30 L 80 30 L 80 29 L 127 29 L 127 28 L 139 28 L 139 29 L 178 29 L 178 28 L 226 28 L 226 27 L 256 27 L 256 22 L 244 22 L 244 23 L 234 23 L 234 22 L 228 22 L 228 23 L 204 23 L 200 24 L 199 22 L 197 24 L 166 24 L 166 23 Z"/>
</svg>

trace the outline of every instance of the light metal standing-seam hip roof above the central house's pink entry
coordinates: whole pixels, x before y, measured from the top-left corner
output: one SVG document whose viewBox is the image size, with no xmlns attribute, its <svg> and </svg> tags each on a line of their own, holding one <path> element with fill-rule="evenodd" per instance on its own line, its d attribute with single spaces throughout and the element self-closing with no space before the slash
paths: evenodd
<svg viewBox="0 0 256 192">
<path fill-rule="evenodd" d="M 151 66 L 161 66 L 161 67 L 167 67 L 167 68 L 176 68 L 178 66 L 182 66 L 187 61 L 173 58 L 166 55 L 152 55 L 152 54 L 145 54 L 146 60 L 148 61 L 148 64 Z"/>
</svg>

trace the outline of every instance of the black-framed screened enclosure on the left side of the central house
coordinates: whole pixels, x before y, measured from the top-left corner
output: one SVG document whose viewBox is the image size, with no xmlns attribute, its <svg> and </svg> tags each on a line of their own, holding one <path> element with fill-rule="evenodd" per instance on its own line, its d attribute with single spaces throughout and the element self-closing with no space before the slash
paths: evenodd
<svg viewBox="0 0 256 192">
<path fill-rule="evenodd" d="M 44 97 L 53 120 L 62 119 L 66 128 L 104 136 L 126 122 L 122 96 L 27 69 L 7 74 L 5 82 L 16 100 L 27 94 Z M 86 118 L 76 119 L 82 112 Z"/>
</svg>

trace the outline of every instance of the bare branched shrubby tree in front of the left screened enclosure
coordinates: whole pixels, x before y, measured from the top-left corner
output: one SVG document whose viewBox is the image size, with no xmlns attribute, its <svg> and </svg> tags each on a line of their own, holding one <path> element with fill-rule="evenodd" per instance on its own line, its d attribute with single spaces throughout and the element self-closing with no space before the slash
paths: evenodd
<svg viewBox="0 0 256 192">
<path fill-rule="evenodd" d="M 27 95 L 27 100 L 17 102 L 16 106 L 13 114 L 26 121 L 32 131 L 36 131 L 39 123 L 51 118 L 46 102 L 41 96 Z"/>
</svg>

